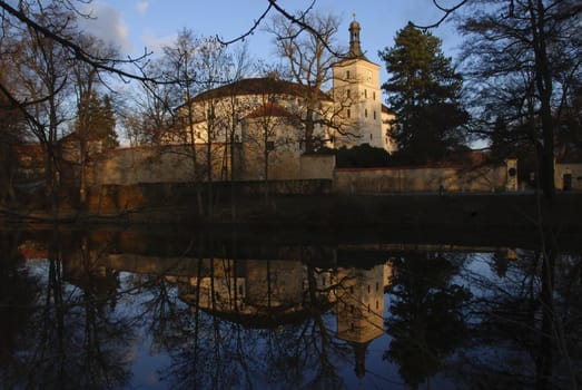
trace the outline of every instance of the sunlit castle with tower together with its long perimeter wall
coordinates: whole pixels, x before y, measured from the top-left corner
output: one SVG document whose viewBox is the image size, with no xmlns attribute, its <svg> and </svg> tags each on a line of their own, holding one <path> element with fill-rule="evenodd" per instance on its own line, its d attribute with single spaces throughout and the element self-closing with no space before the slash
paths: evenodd
<svg viewBox="0 0 582 390">
<path fill-rule="evenodd" d="M 337 192 L 516 191 L 515 162 L 499 167 L 338 169 L 333 155 L 310 152 L 368 144 L 395 150 L 382 104 L 381 67 L 364 55 L 361 26 L 349 25 L 349 50 L 332 66 L 323 91 L 276 75 L 203 91 L 176 109 L 161 147 L 115 149 L 88 172 L 88 183 L 135 185 L 227 181 L 326 179 Z"/>
</svg>

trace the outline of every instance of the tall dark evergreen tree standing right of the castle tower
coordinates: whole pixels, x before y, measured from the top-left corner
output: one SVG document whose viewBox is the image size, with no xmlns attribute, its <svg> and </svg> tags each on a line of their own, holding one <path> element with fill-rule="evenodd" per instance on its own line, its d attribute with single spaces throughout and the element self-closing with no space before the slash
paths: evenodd
<svg viewBox="0 0 582 390">
<path fill-rule="evenodd" d="M 396 114 L 397 154 L 421 164 L 448 157 L 463 145 L 461 126 L 468 115 L 460 104 L 462 77 L 442 52 L 441 40 L 408 23 L 379 56 L 391 75 L 382 88 Z"/>
</svg>

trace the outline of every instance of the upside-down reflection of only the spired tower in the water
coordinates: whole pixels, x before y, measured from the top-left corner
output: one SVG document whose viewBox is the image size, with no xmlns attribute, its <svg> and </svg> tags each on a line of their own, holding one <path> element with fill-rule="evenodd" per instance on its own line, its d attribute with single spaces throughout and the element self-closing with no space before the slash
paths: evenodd
<svg viewBox="0 0 582 390">
<path fill-rule="evenodd" d="M 353 345 L 359 378 L 366 372 L 367 345 L 384 333 L 384 264 L 338 270 L 337 338 Z"/>
</svg>

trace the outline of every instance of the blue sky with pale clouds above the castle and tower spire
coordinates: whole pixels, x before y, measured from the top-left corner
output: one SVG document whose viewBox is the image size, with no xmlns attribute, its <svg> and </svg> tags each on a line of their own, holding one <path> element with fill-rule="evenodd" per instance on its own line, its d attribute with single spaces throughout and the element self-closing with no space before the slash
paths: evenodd
<svg viewBox="0 0 582 390">
<path fill-rule="evenodd" d="M 444 4 L 454 0 L 443 0 Z M 306 9 L 312 0 L 278 0 L 289 11 Z M 246 32 L 266 10 L 266 0 L 93 0 L 88 6 L 93 17 L 83 21 L 83 30 L 111 42 L 122 57 L 138 57 L 146 50 L 159 53 L 171 45 L 179 30 L 185 28 L 224 40 Z M 381 79 L 387 74 L 378 50 L 394 45 L 396 32 L 408 21 L 428 25 L 441 17 L 432 0 L 316 0 L 315 9 L 339 17 L 342 25 L 338 43 L 347 47 L 348 26 L 355 18 L 362 27 L 361 43 L 366 57 L 382 66 Z M 272 11 L 275 14 L 275 11 Z M 443 50 L 454 57 L 458 38 L 451 23 L 432 31 L 443 40 Z M 273 37 L 259 28 L 246 39 L 254 59 L 276 64 Z"/>
</svg>

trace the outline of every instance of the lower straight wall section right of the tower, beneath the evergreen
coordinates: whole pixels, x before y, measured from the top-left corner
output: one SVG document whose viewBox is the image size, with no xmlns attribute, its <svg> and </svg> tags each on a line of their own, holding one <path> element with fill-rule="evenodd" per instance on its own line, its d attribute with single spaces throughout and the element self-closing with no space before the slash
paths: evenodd
<svg viewBox="0 0 582 390">
<path fill-rule="evenodd" d="M 503 192 L 505 166 L 337 168 L 337 193 Z"/>
</svg>

